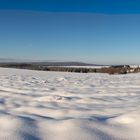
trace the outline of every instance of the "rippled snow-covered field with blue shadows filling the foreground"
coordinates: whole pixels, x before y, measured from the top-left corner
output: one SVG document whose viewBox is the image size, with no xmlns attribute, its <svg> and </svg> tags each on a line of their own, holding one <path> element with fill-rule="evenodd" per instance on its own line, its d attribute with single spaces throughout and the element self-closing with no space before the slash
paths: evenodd
<svg viewBox="0 0 140 140">
<path fill-rule="evenodd" d="M 0 140 L 140 140 L 140 74 L 0 68 Z"/>
</svg>

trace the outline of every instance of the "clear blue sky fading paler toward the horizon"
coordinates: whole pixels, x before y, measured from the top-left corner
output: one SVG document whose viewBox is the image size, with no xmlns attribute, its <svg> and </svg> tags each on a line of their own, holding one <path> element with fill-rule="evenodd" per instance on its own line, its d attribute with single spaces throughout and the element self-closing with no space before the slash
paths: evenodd
<svg viewBox="0 0 140 140">
<path fill-rule="evenodd" d="M 0 0 L 0 58 L 140 64 L 140 1 Z"/>
</svg>

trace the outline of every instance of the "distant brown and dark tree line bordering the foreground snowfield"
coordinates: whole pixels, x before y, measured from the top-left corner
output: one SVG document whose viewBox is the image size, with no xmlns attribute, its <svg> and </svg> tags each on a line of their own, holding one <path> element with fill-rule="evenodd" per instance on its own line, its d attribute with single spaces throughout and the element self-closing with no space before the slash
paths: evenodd
<svg viewBox="0 0 140 140">
<path fill-rule="evenodd" d="M 101 68 L 86 68 L 86 67 L 84 68 L 84 67 L 69 67 L 69 66 L 66 67 L 61 65 L 55 66 L 53 64 L 45 65 L 45 63 L 1 63 L 0 67 L 40 70 L 40 71 L 77 72 L 77 73 L 127 74 L 140 72 L 139 67 L 131 68 L 129 65 L 116 65 L 109 67 L 102 66 Z"/>
</svg>

